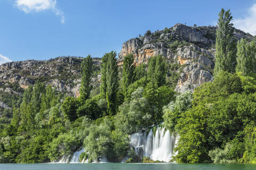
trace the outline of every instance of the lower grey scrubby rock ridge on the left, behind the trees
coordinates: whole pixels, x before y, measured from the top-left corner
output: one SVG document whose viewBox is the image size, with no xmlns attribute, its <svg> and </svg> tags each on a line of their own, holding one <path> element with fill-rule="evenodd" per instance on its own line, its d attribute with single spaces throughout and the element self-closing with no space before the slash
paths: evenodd
<svg viewBox="0 0 256 170">
<path fill-rule="evenodd" d="M 3 103 L 2 101 L 7 101 L 6 98 L 13 95 L 20 98 L 23 89 L 35 82 L 51 85 L 68 96 L 79 96 L 82 61 L 83 58 L 81 57 L 57 57 L 46 61 L 26 60 L 0 65 L 0 92 L 4 94 L 0 94 L 0 112 L 1 107 L 10 108 L 12 106 L 11 103 Z M 101 58 L 93 58 L 96 73 L 93 74 L 92 81 L 96 88 L 100 85 L 98 81 L 100 64 Z"/>
</svg>

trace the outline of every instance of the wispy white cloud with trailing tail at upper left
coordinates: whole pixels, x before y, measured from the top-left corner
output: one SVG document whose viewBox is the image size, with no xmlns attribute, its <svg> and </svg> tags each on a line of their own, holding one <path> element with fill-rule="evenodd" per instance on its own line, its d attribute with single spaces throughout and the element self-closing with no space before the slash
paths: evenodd
<svg viewBox="0 0 256 170">
<path fill-rule="evenodd" d="M 15 6 L 25 13 L 52 10 L 65 23 L 64 13 L 57 7 L 57 0 L 15 0 Z"/>
</svg>

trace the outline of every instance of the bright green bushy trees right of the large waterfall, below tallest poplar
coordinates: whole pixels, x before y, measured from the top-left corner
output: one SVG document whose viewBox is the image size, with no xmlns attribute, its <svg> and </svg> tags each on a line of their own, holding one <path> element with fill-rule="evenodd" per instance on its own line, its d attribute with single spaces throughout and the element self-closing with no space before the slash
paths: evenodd
<svg viewBox="0 0 256 170">
<path fill-rule="evenodd" d="M 255 77 L 227 72 L 198 87 L 175 126 L 177 162 L 254 163 L 255 92 Z"/>
</svg>

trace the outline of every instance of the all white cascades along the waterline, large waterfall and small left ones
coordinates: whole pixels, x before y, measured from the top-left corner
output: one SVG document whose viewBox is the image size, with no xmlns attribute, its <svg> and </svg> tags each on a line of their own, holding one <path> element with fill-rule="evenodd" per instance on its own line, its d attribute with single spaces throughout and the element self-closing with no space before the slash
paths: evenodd
<svg viewBox="0 0 256 170">
<path fill-rule="evenodd" d="M 174 132 L 170 133 L 169 130 L 163 127 L 157 127 L 155 134 L 153 134 L 153 129 L 150 129 L 148 133 L 137 132 L 131 135 L 131 146 L 135 149 L 137 155 L 164 162 L 169 162 L 172 156 L 175 155 L 173 149 L 177 145 L 177 141 L 178 137 L 175 136 Z M 58 163 L 88 163 L 88 159 L 79 162 L 79 156 L 84 151 L 82 149 L 74 152 L 73 155 L 63 156 Z M 94 161 L 93 163 L 97 162 Z M 108 163 L 108 160 L 106 157 L 99 158 L 98 163 Z"/>
</svg>

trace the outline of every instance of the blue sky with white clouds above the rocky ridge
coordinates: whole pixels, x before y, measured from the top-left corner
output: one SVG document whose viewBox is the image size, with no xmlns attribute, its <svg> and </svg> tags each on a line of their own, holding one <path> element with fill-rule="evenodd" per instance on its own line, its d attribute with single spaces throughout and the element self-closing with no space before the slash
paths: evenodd
<svg viewBox="0 0 256 170">
<path fill-rule="evenodd" d="M 147 30 L 214 25 L 221 8 L 230 8 L 236 27 L 256 34 L 256 1 L 0 0 L 0 64 L 119 53 Z"/>
</svg>

